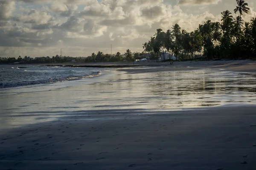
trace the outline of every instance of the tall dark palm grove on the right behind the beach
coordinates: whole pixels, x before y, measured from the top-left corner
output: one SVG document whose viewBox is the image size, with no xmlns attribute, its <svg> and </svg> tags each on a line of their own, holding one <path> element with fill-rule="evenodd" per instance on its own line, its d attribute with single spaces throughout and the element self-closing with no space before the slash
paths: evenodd
<svg viewBox="0 0 256 170">
<path fill-rule="evenodd" d="M 177 59 L 246 59 L 256 56 L 256 18 L 245 22 L 242 18 L 248 13 L 248 3 L 236 0 L 234 9 L 237 17 L 230 11 L 221 12 L 221 22 L 208 20 L 192 32 L 181 29 L 178 24 L 172 30 L 164 32 L 161 28 L 148 42 L 143 44 L 145 52 L 158 58 L 169 59 L 164 53 L 170 53 Z"/>
</svg>

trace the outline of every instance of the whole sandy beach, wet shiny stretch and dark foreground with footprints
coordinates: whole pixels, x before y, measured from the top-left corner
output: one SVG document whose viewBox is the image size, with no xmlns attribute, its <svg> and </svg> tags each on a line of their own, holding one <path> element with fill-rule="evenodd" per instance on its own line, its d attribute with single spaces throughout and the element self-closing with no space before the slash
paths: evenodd
<svg viewBox="0 0 256 170">
<path fill-rule="evenodd" d="M 151 64 L 1 90 L 0 170 L 254 170 L 255 62 Z"/>
</svg>

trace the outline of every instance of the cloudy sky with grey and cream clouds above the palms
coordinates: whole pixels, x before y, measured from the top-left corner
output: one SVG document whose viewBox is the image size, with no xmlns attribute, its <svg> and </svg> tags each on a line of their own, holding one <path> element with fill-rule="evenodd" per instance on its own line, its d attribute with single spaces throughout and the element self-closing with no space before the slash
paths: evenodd
<svg viewBox="0 0 256 170">
<path fill-rule="evenodd" d="M 255 0 L 247 0 L 256 17 Z M 236 0 L 0 0 L 0 57 L 143 51 L 157 28 L 193 31 Z M 233 14 L 235 16 L 235 14 Z"/>
</svg>

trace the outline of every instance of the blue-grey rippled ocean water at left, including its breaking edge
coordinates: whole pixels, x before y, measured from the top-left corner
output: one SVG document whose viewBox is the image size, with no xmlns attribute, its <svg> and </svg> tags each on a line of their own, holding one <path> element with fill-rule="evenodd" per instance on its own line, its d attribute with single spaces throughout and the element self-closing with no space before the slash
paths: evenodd
<svg viewBox="0 0 256 170">
<path fill-rule="evenodd" d="M 95 77 L 99 68 L 76 68 L 41 65 L 0 65 L 0 88 L 52 84 Z"/>
</svg>

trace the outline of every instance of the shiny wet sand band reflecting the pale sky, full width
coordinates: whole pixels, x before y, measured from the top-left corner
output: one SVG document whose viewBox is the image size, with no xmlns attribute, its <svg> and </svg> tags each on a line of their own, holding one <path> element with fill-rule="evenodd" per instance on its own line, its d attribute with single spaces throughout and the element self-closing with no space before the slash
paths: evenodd
<svg viewBox="0 0 256 170">
<path fill-rule="evenodd" d="M 212 70 L 112 73 L 108 79 L 91 84 L 80 81 L 72 86 L 69 82 L 66 88 L 49 91 L 19 88 L 17 94 L 10 95 L 6 91 L 6 95 L 0 96 L 0 123 L 7 126 L 61 116 L 256 104 L 256 74 Z"/>
</svg>

